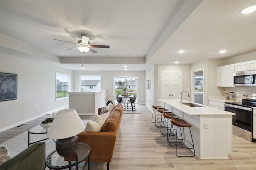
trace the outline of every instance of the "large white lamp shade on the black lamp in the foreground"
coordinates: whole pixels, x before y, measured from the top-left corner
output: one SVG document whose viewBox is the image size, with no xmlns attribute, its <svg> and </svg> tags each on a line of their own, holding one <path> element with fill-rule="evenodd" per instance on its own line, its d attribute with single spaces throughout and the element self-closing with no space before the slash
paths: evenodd
<svg viewBox="0 0 256 170">
<path fill-rule="evenodd" d="M 82 132 L 84 123 L 75 109 L 64 109 L 56 113 L 47 137 L 49 139 L 65 139 Z"/>
</svg>

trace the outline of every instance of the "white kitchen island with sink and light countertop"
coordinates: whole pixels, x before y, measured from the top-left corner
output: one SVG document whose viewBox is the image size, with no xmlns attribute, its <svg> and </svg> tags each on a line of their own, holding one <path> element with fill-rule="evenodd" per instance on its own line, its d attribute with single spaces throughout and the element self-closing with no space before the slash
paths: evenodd
<svg viewBox="0 0 256 170">
<path fill-rule="evenodd" d="M 232 115 L 234 113 L 199 105 L 180 104 L 180 99 L 158 99 L 166 109 L 193 125 L 191 127 L 196 156 L 200 159 L 228 159 L 232 152 Z M 183 103 L 192 103 L 183 100 Z M 191 142 L 188 128 L 185 137 Z"/>
</svg>

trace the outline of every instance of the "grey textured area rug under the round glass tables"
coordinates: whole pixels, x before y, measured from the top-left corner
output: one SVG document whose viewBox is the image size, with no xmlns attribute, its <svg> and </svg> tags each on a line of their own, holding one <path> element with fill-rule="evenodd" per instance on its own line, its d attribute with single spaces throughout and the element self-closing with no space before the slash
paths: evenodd
<svg viewBox="0 0 256 170">
<path fill-rule="evenodd" d="M 86 123 L 88 121 L 92 121 L 92 119 L 86 119 L 86 120 L 82 120 L 82 121 L 86 125 Z M 45 138 L 46 138 L 46 134 L 39 134 L 39 135 L 30 134 L 30 143 L 32 143 L 34 141 L 40 141 Z M 56 149 L 55 142 L 52 139 L 46 139 L 42 142 L 45 142 L 45 156 L 47 157 L 53 150 Z M 28 148 L 28 132 L 26 131 L 24 133 L 21 133 L 20 135 L 13 137 L 13 138 L 0 144 L 0 146 L 3 146 L 3 145 L 8 147 L 9 152 L 12 157 L 16 156 L 17 154 L 19 154 L 20 152 L 22 152 L 23 150 Z M 58 162 L 61 161 L 61 163 L 60 163 L 61 165 L 68 164 L 68 162 L 64 161 L 63 159 L 55 160 L 55 161 L 58 161 Z M 81 164 L 80 166 L 82 166 L 82 165 L 83 164 Z M 46 170 L 48 170 L 48 168 L 46 168 Z"/>
</svg>

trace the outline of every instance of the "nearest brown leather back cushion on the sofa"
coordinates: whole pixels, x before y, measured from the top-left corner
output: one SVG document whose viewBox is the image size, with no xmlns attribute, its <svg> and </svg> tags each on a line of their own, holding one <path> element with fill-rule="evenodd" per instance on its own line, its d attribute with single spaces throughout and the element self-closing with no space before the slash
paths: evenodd
<svg viewBox="0 0 256 170">
<path fill-rule="evenodd" d="M 118 110 L 113 109 L 113 111 L 110 113 L 110 116 L 104 123 L 102 127 L 103 132 L 108 132 L 108 131 L 114 131 L 116 128 L 116 124 L 118 123 L 120 117 L 120 112 Z"/>
</svg>

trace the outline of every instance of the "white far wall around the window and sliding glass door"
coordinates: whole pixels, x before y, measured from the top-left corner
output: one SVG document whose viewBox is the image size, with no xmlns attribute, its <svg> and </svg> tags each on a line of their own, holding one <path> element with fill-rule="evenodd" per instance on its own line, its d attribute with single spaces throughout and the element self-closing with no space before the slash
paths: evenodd
<svg viewBox="0 0 256 170">
<path fill-rule="evenodd" d="M 114 76 L 138 76 L 138 97 L 137 102 L 145 103 L 145 71 L 74 71 L 74 92 L 79 92 L 79 75 L 101 75 L 101 89 L 107 93 L 113 93 Z"/>
</svg>

